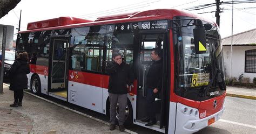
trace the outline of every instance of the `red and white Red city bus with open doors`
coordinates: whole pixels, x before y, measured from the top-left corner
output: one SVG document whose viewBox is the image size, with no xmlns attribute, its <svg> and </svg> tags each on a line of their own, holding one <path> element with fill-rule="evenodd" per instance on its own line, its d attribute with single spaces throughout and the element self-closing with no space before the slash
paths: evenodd
<svg viewBox="0 0 256 134">
<path fill-rule="evenodd" d="M 145 126 L 145 76 L 153 48 L 163 49 L 157 124 Z M 105 67 L 118 51 L 136 79 L 127 88 L 125 124 L 164 133 L 197 132 L 220 119 L 226 87 L 217 24 L 176 9 L 156 9 L 95 21 L 60 17 L 28 24 L 16 52 L 31 58 L 29 87 L 107 115 L 109 76 Z M 118 108 L 117 108 L 118 117 Z"/>
</svg>

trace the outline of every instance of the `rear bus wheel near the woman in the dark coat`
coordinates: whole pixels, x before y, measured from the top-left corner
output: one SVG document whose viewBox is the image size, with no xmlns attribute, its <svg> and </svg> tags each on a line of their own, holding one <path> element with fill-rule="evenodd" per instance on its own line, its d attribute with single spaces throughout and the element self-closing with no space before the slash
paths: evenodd
<svg viewBox="0 0 256 134">
<path fill-rule="evenodd" d="M 31 92 L 36 95 L 41 94 L 41 82 L 38 75 L 34 75 L 30 83 Z"/>
</svg>

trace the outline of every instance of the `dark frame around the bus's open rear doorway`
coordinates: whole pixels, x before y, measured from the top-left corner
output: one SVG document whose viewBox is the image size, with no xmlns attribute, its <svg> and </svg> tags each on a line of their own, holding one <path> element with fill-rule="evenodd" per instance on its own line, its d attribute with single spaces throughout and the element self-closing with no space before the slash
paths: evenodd
<svg viewBox="0 0 256 134">
<path fill-rule="evenodd" d="M 68 83 L 69 83 L 69 57 L 70 57 L 70 40 L 71 40 L 71 36 L 70 35 L 61 35 L 61 36 L 51 36 L 50 37 L 50 55 L 49 55 L 49 77 L 48 77 L 48 95 L 49 92 L 51 91 L 51 87 L 52 87 L 52 62 L 53 62 L 53 47 L 54 47 L 54 43 L 55 40 L 66 40 L 66 58 L 65 58 L 65 76 L 64 76 L 64 83 L 65 83 L 65 89 L 66 89 L 66 99 L 64 101 L 68 102 Z M 50 91 L 49 91 L 50 90 Z M 59 98 L 59 97 L 58 97 Z M 63 100 L 62 98 L 60 98 L 61 100 Z"/>
</svg>

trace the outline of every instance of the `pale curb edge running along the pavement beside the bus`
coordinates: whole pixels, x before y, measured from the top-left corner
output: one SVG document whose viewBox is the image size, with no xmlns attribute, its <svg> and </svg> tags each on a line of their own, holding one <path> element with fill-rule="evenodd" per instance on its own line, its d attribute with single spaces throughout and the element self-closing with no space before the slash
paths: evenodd
<svg viewBox="0 0 256 134">
<path fill-rule="evenodd" d="M 3 83 L 3 84 L 4 84 L 5 86 L 10 87 L 9 84 L 6 84 L 6 83 Z M 68 108 L 68 107 L 65 107 L 64 105 L 58 104 L 58 103 L 56 103 L 56 102 L 52 102 L 52 101 L 47 100 L 47 99 L 45 99 L 45 98 L 43 98 L 43 97 L 40 97 L 40 96 L 34 95 L 34 94 L 32 94 L 32 93 L 29 93 L 28 91 L 24 91 L 24 93 L 29 94 L 29 95 L 32 95 L 32 96 L 37 97 L 37 98 L 40 98 L 41 100 L 44 100 L 44 101 L 49 102 L 49 103 L 51 103 L 51 104 L 57 105 L 58 107 L 64 108 L 64 109 L 66 109 L 66 110 L 75 112 L 76 114 L 79 114 L 79 115 L 85 116 L 85 117 L 87 117 L 87 118 L 93 119 L 94 121 L 103 123 L 103 124 L 105 124 L 105 125 L 110 125 L 110 123 L 105 122 L 105 121 L 102 121 L 101 119 L 98 119 L 98 118 L 92 117 L 92 116 L 90 116 L 90 115 L 84 114 L 83 112 L 79 112 L 79 111 L 70 109 L 70 108 Z M 118 126 L 116 126 L 116 129 L 118 129 Z M 132 134 L 136 134 L 136 133 L 137 133 L 137 132 L 133 132 L 133 131 L 127 130 L 127 129 L 125 129 L 124 131 L 127 132 L 127 133 L 132 133 Z"/>
</svg>

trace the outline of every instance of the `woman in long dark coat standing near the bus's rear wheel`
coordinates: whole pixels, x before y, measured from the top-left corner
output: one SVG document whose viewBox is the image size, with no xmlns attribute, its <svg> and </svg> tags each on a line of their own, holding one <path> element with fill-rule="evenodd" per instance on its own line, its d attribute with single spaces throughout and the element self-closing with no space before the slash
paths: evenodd
<svg viewBox="0 0 256 134">
<path fill-rule="evenodd" d="M 28 61 L 28 53 L 19 53 L 9 70 L 10 90 L 14 91 L 14 104 L 10 104 L 10 107 L 22 106 L 23 89 L 28 88 L 28 77 L 26 76 L 30 73 Z"/>
</svg>

